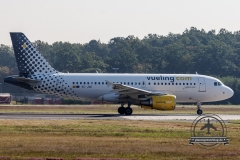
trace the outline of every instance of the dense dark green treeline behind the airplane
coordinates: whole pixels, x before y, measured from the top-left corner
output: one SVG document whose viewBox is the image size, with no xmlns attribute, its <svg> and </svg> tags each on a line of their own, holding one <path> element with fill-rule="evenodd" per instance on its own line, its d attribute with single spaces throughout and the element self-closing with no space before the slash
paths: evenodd
<svg viewBox="0 0 240 160">
<path fill-rule="evenodd" d="M 222 79 L 235 95 L 223 103 L 240 104 L 240 31 L 186 29 L 182 34 L 115 37 L 105 44 L 35 41 L 34 45 L 61 72 L 195 73 Z M 0 77 L 18 74 L 10 46 L 0 47 Z M 5 92 L 22 92 L 3 84 Z"/>
</svg>

